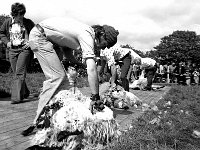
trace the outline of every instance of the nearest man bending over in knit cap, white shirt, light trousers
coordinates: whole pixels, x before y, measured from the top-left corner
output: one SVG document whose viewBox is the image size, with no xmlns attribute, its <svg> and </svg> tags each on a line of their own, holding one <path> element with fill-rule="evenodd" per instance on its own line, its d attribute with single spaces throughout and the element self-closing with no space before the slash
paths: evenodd
<svg viewBox="0 0 200 150">
<path fill-rule="evenodd" d="M 101 49 L 112 47 L 117 42 L 119 32 L 108 25 L 89 26 L 68 17 L 48 18 L 36 24 L 30 32 L 29 44 L 37 57 L 46 80 L 43 82 L 42 93 L 33 124 L 22 132 L 27 136 L 37 128 L 44 107 L 53 96 L 65 85 L 70 88 L 69 79 L 53 45 L 62 47 L 67 59 L 74 64 L 82 65 L 72 51 L 82 51 L 83 63 L 87 66 L 88 82 L 91 89 L 90 110 L 102 111 L 103 101 L 99 96 L 99 81 L 97 75 L 96 56 Z M 84 65 L 83 65 L 84 66 Z"/>
</svg>

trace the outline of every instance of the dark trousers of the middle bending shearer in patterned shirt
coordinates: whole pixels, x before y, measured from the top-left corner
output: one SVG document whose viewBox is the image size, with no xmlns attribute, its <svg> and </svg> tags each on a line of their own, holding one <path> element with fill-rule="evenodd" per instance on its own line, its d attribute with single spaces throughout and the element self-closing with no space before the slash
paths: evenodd
<svg viewBox="0 0 200 150">
<path fill-rule="evenodd" d="M 127 54 L 123 59 L 123 64 L 120 66 L 121 67 L 121 76 L 120 79 L 122 81 L 122 87 L 124 88 L 125 91 L 129 91 L 129 80 L 127 79 L 128 71 L 131 65 L 131 56 L 130 54 Z"/>
</svg>

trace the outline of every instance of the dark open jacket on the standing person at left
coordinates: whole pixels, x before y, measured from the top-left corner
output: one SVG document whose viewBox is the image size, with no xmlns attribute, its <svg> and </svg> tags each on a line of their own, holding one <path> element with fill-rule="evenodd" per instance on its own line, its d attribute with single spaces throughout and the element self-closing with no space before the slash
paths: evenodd
<svg viewBox="0 0 200 150">
<path fill-rule="evenodd" d="M 0 39 L 1 41 L 7 45 L 10 41 L 10 33 L 9 28 L 12 24 L 12 18 L 8 18 L 4 21 L 3 25 L 0 28 Z M 24 18 L 23 20 L 24 27 L 27 30 L 28 35 L 30 34 L 31 29 L 34 27 L 34 22 L 30 19 Z"/>
</svg>

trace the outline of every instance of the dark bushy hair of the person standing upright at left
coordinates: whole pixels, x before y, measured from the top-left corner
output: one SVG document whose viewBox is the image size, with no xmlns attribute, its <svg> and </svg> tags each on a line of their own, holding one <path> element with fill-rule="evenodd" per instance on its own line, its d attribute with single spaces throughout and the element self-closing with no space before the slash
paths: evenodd
<svg viewBox="0 0 200 150">
<path fill-rule="evenodd" d="M 11 16 L 15 17 L 18 14 L 24 15 L 26 13 L 26 7 L 22 3 L 14 3 L 11 6 Z"/>
</svg>

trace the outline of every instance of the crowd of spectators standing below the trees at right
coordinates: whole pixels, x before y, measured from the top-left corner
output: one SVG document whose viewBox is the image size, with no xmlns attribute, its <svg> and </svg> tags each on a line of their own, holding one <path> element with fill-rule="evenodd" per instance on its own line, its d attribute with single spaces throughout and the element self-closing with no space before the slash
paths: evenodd
<svg viewBox="0 0 200 150">
<path fill-rule="evenodd" d="M 154 82 L 177 83 L 181 85 L 199 84 L 199 67 L 191 60 L 177 63 L 157 63 Z"/>
</svg>

